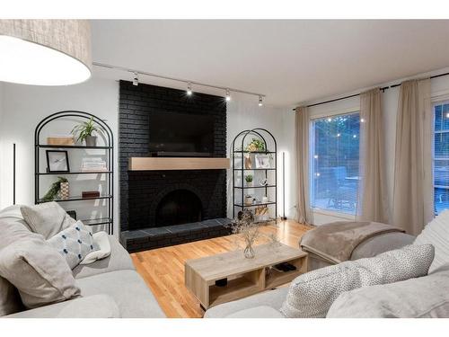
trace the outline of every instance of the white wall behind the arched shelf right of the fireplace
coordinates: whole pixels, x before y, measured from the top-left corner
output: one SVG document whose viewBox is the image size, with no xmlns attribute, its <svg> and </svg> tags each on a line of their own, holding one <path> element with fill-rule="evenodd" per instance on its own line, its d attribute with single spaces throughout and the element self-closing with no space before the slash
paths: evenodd
<svg viewBox="0 0 449 337">
<path fill-rule="evenodd" d="M 286 216 L 295 217 L 295 115 L 291 109 L 258 106 L 255 102 L 227 103 L 227 147 L 232 158 L 233 137 L 244 129 L 268 129 L 277 140 L 277 216 L 282 215 L 282 152 L 286 153 Z M 251 138 L 251 137 L 250 137 Z M 251 139 L 250 139 L 251 140 Z M 272 145 L 269 145 L 272 146 Z M 269 148 L 271 150 L 271 148 Z M 255 182 L 257 183 L 257 182 Z M 232 171 L 228 170 L 228 217 L 233 217 Z M 251 194 L 256 190 L 249 191 Z M 262 189 L 259 190 L 262 192 Z M 257 195 L 261 198 L 259 195 Z"/>
</svg>

